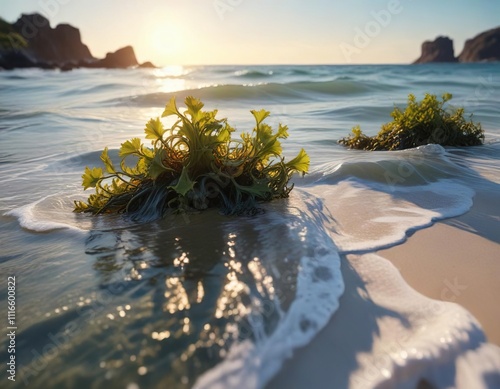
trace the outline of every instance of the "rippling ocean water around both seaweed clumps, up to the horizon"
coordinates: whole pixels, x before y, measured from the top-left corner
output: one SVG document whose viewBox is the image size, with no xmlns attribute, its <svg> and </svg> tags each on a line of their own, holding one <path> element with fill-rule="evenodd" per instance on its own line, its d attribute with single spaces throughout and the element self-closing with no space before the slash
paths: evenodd
<svg viewBox="0 0 500 389">
<path fill-rule="evenodd" d="M 500 193 L 498 64 L 26 69 L 0 72 L 0 91 L 2 289 L 16 277 L 12 387 L 265 387 L 342 309 L 347 254 L 467 212 L 478 188 Z M 375 134 L 394 104 L 426 92 L 452 93 L 483 125 L 485 145 L 337 144 L 357 124 Z M 238 130 L 251 130 L 249 111 L 260 108 L 271 125 L 289 126 L 285 156 L 302 147 L 311 156 L 290 198 L 254 217 L 208 210 L 132 223 L 72 213 L 88 195 L 85 166 L 99 165 L 105 146 L 118 159 L 120 143 L 142 137 L 170 97 L 189 95 Z M 370 258 L 375 270 L 387 267 Z M 5 307 L 7 294 L 0 300 Z M 475 320 L 446 309 L 422 314 L 447 331 L 445 344 L 411 333 L 408 354 L 426 356 L 415 366 L 443 356 L 471 371 L 488 366 L 464 341 L 484 339 Z M 5 361 L 5 338 L 1 345 Z M 386 383 L 397 369 L 425 370 L 411 363 L 394 357 Z"/>
</svg>

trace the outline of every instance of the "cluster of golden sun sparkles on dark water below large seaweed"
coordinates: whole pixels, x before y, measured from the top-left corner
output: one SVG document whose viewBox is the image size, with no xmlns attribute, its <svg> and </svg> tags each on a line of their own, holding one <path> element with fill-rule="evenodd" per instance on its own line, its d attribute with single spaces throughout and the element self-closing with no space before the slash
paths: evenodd
<svg viewBox="0 0 500 389">
<path fill-rule="evenodd" d="M 273 278 L 279 273 L 259 257 L 249 256 L 236 233 L 227 234 L 221 243 L 216 270 L 204 277 L 206 273 L 198 273 L 197 268 L 204 260 L 202 254 L 187 250 L 175 238 L 175 273 L 165 279 L 162 293 L 166 322 L 145 329 L 149 339 L 162 342 L 158 347 L 169 348 L 179 339 L 185 342 L 172 362 L 179 374 L 187 373 L 186 363 L 191 358 L 199 360 L 207 353 L 224 358 L 233 342 L 266 336 L 266 315 L 275 315 L 279 309 Z M 210 312 L 201 323 L 197 321 L 199 308 Z"/>
</svg>

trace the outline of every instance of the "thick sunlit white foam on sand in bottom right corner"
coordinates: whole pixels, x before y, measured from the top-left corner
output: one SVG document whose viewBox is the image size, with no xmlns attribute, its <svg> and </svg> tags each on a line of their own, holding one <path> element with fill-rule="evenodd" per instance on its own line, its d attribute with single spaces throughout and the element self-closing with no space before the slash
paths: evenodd
<svg viewBox="0 0 500 389">
<path fill-rule="evenodd" d="M 465 308 L 423 296 L 377 254 L 350 262 L 369 285 L 370 298 L 410 322 L 405 328 L 381 319 L 380 335 L 351 375 L 353 389 L 413 389 L 422 379 L 437 388 L 500 387 L 495 386 L 500 385 L 500 347 L 487 343 L 479 322 Z"/>
</svg>

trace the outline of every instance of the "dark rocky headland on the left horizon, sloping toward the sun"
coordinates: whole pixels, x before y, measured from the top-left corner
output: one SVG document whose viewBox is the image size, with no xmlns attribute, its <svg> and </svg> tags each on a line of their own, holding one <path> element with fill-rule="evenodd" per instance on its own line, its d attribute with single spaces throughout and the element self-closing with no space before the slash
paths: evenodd
<svg viewBox="0 0 500 389">
<path fill-rule="evenodd" d="M 103 59 L 94 58 L 82 43 L 77 28 L 69 24 L 52 28 L 49 20 L 40 14 L 22 14 L 13 24 L 2 20 L 0 30 L 4 43 L 0 45 L 0 68 L 72 70 L 78 67 L 114 69 L 139 66 L 132 46 L 108 53 Z M 141 67 L 155 66 L 146 62 Z"/>
</svg>

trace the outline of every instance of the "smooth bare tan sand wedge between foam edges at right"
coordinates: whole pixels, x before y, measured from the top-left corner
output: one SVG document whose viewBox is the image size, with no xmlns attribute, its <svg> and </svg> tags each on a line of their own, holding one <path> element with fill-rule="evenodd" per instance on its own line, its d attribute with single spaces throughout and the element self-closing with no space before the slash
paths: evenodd
<svg viewBox="0 0 500 389">
<path fill-rule="evenodd" d="M 500 202 L 478 193 L 473 209 L 417 231 L 404 244 L 379 252 L 415 290 L 465 307 L 488 340 L 500 345 Z"/>
</svg>

